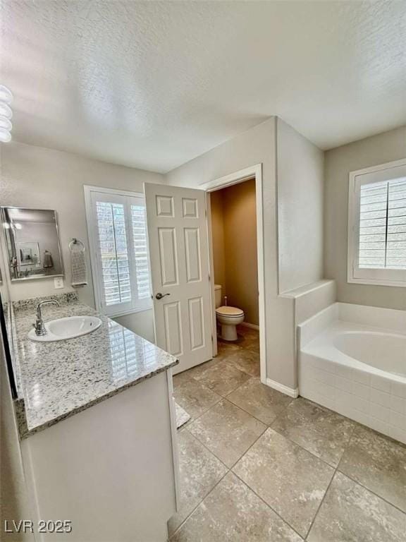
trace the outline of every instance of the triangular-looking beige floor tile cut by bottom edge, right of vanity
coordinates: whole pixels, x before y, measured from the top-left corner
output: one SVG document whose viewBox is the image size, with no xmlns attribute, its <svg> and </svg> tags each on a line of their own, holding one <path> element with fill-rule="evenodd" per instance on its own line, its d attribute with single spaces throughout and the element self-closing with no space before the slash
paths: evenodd
<svg viewBox="0 0 406 542">
<path fill-rule="evenodd" d="M 173 542 L 300 542 L 302 538 L 232 474 L 204 499 Z"/>
</svg>

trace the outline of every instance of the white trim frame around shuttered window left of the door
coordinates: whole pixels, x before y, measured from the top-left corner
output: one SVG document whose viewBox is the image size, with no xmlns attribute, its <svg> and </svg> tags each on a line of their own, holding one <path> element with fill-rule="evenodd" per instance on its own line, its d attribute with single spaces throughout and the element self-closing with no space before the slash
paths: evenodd
<svg viewBox="0 0 406 542">
<path fill-rule="evenodd" d="M 105 193 L 105 194 L 112 194 L 112 195 L 124 195 L 124 196 L 130 196 L 132 198 L 142 198 L 145 200 L 145 195 L 142 192 L 131 192 L 126 190 L 120 190 L 116 188 L 104 188 L 103 186 L 93 186 L 93 185 L 84 185 L 83 190 L 85 192 L 85 210 L 86 210 L 86 222 L 87 222 L 87 237 L 89 241 L 89 248 L 90 248 L 90 267 L 92 270 L 92 279 L 93 279 L 93 291 L 94 291 L 94 303 L 96 305 L 97 310 L 103 311 L 111 318 L 117 318 L 119 316 L 125 316 L 128 314 L 134 314 L 134 313 L 141 313 L 144 311 L 149 311 L 152 309 L 152 301 L 147 304 L 147 306 L 139 307 L 139 308 L 130 308 L 129 310 L 123 310 L 123 311 L 104 311 L 104 305 L 103 305 L 103 294 L 102 294 L 102 287 L 101 287 L 101 277 L 99 276 L 99 273 L 97 272 L 96 266 L 94 265 L 94 262 L 97 262 L 98 260 L 98 253 L 97 253 L 97 231 L 96 231 L 96 224 L 94 224 L 93 215 L 92 215 L 92 193 Z M 151 273 L 151 270 L 149 269 L 149 274 Z"/>
</svg>

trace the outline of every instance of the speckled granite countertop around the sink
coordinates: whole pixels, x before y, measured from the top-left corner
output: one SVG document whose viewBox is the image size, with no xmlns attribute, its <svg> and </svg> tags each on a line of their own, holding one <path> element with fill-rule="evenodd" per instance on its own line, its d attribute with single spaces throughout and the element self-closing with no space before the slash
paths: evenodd
<svg viewBox="0 0 406 542">
<path fill-rule="evenodd" d="M 62 305 L 44 306 L 42 314 L 46 322 L 65 316 L 96 315 L 102 324 L 98 330 L 75 339 L 35 342 L 27 337 L 35 321 L 35 304 L 20 302 L 13 306 L 20 438 L 178 363 L 171 354 L 79 303 L 75 294 L 54 298 Z"/>
</svg>

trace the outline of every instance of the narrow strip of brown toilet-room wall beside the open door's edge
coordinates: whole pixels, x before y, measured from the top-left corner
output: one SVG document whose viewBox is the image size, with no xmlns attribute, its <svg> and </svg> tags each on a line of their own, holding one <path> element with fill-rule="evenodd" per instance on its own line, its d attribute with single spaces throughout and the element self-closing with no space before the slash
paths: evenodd
<svg viewBox="0 0 406 542">
<path fill-rule="evenodd" d="M 211 239 L 213 242 L 214 284 L 221 284 L 221 294 L 226 294 L 226 264 L 224 254 L 223 193 L 211 192 Z"/>
</svg>

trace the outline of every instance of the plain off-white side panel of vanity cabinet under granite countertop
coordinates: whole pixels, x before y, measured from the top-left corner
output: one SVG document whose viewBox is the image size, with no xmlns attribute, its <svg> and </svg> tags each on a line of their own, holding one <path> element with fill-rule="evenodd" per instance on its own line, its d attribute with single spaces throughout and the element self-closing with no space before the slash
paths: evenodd
<svg viewBox="0 0 406 542">
<path fill-rule="evenodd" d="M 176 512 L 176 418 L 171 368 L 21 441 L 35 541 L 164 542 Z"/>
</svg>

